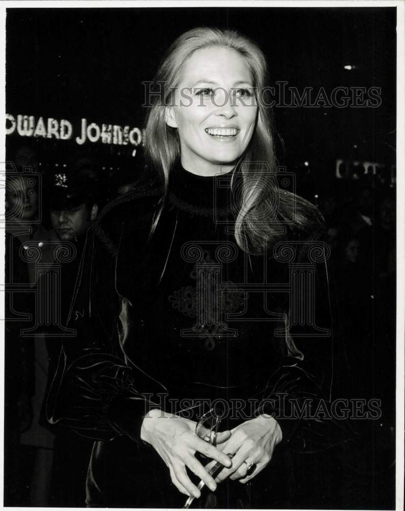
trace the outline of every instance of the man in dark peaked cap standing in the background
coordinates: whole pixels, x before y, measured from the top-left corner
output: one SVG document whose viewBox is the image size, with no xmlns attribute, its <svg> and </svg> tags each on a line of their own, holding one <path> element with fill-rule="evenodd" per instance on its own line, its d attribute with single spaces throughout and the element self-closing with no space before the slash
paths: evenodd
<svg viewBox="0 0 405 511">
<path fill-rule="evenodd" d="M 97 218 L 101 204 L 102 194 L 98 172 L 89 160 L 76 161 L 72 170 L 65 173 L 56 172 L 53 175 L 49 196 L 53 230 L 62 243 L 70 242 L 76 247 L 76 257 L 61 267 L 61 320 L 65 325 L 87 229 L 90 222 Z M 47 342 L 50 360 L 48 387 L 52 383 L 60 349 L 60 339 L 49 339 Z M 43 422 L 46 423 L 45 419 Z M 49 425 L 49 423 L 46 424 Z M 63 426 L 56 428 L 51 486 L 52 505 L 68 507 L 83 505 L 91 448 L 90 440 L 78 436 Z"/>
</svg>

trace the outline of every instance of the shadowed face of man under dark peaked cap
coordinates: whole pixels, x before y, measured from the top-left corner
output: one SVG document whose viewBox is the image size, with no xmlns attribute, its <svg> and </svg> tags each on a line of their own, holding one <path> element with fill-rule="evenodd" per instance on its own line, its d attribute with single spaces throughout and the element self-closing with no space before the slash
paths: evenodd
<svg viewBox="0 0 405 511">
<path fill-rule="evenodd" d="M 86 232 L 91 220 L 97 217 L 97 212 L 96 204 L 89 210 L 84 203 L 69 209 L 53 210 L 52 227 L 61 241 L 72 241 Z"/>
</svg>

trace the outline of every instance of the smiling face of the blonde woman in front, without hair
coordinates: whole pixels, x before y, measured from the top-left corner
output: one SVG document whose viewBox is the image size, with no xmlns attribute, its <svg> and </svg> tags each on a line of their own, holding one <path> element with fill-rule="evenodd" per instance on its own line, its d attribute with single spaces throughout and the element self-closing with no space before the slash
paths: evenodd
<svg viewBox="0 0 405 511">
<path fill-rule="evenodd" d="M 233 166 L 251 140 L 256 113 L 244 57 L 229 48 L 197 50 L 185 62 L 172 105 L 166 107 L 166 123 L 178 129 L 182 166 L 200 175 Z"/>
</svg>

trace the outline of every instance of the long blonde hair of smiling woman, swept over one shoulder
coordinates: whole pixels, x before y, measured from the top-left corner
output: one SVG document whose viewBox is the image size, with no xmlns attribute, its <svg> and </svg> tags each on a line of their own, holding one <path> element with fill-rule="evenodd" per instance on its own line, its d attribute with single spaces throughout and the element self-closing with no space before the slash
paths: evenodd
<svg viewBox="0 0 405 511">
<path fill-rule="evenodd" d="M 231 48 L 245 57 L 256 98 L 257 94 L 266 90 L 266 58 L 249 38 L 234 30 L 208 27 L 195 28 L 180 35 L 166 52 L 154 78 L 154 103 L 149 109 L 145 130 L 146 157 L 152 168 L 160 173 L 165 191 L 170 172 L 180 158 L 179 135 L 177 129 L 165 123 L 165 106 L 172 101 L 173 90 L 178 86 L 186 60 L 197 50 L 215 46 Z M 237 161 L 233 174 L 240 171 L 242 175 L 242 187 L 237 191 L 239 211 L 234 235 L 236 243 L 248 253 L 263 251 L 280 235 L 283 227 L 307 234 L 318 233 L 323 220 L 311 202 L 278 187 L 271 112 L 263 101 L 257 101 L 257 105 L 251 141 Z M 153 229 L 159 215 L 155 217 Z"/>
</svg>

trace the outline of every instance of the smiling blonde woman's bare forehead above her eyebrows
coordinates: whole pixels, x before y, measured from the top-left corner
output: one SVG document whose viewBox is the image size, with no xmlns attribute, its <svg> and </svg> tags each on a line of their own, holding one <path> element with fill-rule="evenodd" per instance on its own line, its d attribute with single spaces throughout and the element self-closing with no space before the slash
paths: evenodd
<svg viewBox="0 0 405 511">
<path fill-rule="evenodd" d="M 236 50 L 226 47 L 209 47 L 196 50 L 183 64 L 180 81 L 187 86 L 198 83 L 252 84 L 252 74 L 247 60 Z"/>
</svg>

